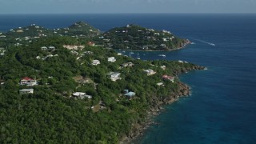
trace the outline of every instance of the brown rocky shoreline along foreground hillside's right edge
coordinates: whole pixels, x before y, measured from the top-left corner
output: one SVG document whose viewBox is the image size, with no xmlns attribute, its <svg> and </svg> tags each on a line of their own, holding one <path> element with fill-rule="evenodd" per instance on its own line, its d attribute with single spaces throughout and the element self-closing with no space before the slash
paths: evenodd
<svg viewBox="0 0 256 144">
<path fill-rule="evenodd" d="M 191 70 L 206 70 L 206 68 L 204 66 L 194 66 L 192 68 L 178 71 L 177 75 L 191 71 Z M 131 130 L 130 134 L 126 137 L 121 138 L 119 143 L 120 144 L 132 143 L 134 139 L 142 136 L 150 126 L 156 124 L 153 121 L 153 118 L 164 110 L 164 108 L 162 108 L 163 105 L 171 104 L 173 102 L 178 101 L 178 99 L 181 97 L 187 97 L 190 95 L 190 86 L 182 82 L 178 82 L 178 85 L 179 86 L 178 86 L 177 92 L 170 94 L 169 97 L 162 99 L 162 101 L 156 102 L 156 105 L 154 107 L 151 107 L 151 109 L 147 112 L 146 122 L 141 125 L 134 124 L 133 130 Z"/>
</svg>

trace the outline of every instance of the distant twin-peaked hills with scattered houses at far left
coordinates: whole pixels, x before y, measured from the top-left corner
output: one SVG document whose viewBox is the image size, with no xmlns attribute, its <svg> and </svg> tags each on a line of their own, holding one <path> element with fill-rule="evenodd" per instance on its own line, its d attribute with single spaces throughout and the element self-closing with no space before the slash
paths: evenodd
<svg viewBox="0 0 256 144">
<path fill-rule="evenodd" d="M 86 22 L 75 22 L 69 27 L 54 30 L 32 24 L 30 26 L 11 29 L 6 33 L 0 33 L 0 46 L 28 45 L 30 42 L 33 42 L 35 38 L 46 38 L 51 36 L 92 38 L 98 34 L 101 34 L 101 31 L 90 26 Z"/>
</svg>

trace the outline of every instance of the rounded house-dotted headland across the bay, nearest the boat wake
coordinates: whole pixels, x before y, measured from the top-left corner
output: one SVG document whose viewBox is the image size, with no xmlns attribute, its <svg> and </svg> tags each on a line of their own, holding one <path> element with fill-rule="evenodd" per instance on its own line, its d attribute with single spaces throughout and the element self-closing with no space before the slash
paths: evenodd
<svg viewBox="0 0 256 144">
<path fill-rule="evenodd" d="M 94 38 L 98 45 L 126 50 L 174 50 L 190 41 L 166 30 L 147 29 L 137 25 L 116 27 Z"/>
</svg>

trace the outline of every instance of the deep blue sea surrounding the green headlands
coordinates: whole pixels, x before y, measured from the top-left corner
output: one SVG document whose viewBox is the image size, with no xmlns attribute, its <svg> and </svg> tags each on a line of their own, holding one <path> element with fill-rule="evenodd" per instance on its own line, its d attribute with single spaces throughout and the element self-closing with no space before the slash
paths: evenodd
<svg viewBox="0 0 256 144">
<path fill-rule="evenodd" d="M 179 78 L 192 87 L 192 95 L 165 106 L 154 119 L 158 124 L 134 143 L 256 142 L 256 14 L 0 15 L 0 31 L 31 23 L 53 29 L 80 20 L 102 31 L 130 23 L 170 30 L 195 44 L 172 52 L 122 53 L 209 69 L 182 74 Z"/>
</svg>

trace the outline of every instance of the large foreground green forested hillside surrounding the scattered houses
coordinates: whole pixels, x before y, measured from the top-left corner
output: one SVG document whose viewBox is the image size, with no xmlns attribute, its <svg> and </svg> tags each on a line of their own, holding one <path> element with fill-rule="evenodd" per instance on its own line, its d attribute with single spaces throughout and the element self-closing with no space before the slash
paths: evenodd
<svg viewBox="0 0 256 144">
<path fill-rule="evenodd" d="M 0 56 L 0 143 L 118 143 L 147 121 L 150 110 L 186 94 L 177 77 L 164 81 L 163 74 L 203 68 L 187 62 L 135 60 L 86 43 L 69 37 L 38 38 L 29 46 L 11 46 Z M 85 48 L 67 50 L 63 45 Z M 108 62 L 109 57 L 116 62 Z M 101 64 L 93 66 L 94 59 Z M 121 67 L 126 62 L 134 66 Z M 147 69 L 156 74 L 147 76 Z M 111 71 L 122 79 L 112 82 L 107 76 Z M 38 86 L 20 86 L 23 77 L 37 79 Z M 19 94 L 24 88 L 33 88 L 34 94 Z M 127 98 L 125 89 L 136 95 Z M 74 92 L 92 98 L 74 98 Z"/>
</svg>

